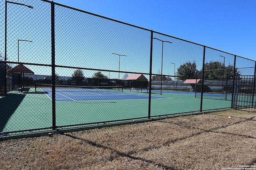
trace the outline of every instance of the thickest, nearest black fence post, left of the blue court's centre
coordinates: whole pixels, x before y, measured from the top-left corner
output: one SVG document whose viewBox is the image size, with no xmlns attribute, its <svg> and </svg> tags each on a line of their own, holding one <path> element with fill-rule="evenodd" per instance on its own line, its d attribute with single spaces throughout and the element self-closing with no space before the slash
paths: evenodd
<svg viewBox="0 0 256 170">
<path fill-rule="evenodd" d="M 51 2 L 51 33 L 52 33 L 52 129 L 56 130 L 56 105 L 55 105 L 55 27 L 54 27 L 54 2 Z"/>
</svg>

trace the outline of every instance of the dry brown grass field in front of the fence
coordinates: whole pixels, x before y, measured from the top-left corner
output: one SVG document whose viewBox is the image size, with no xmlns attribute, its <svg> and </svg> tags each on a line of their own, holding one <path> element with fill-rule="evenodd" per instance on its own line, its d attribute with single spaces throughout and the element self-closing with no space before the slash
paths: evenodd
<svg viewBox="0 0 256 170">
<path fill-rule="evenodd" d="M 201 115 L 0 141 L 1 170 L 256 169 L 256 112 Z"/>
</svg>

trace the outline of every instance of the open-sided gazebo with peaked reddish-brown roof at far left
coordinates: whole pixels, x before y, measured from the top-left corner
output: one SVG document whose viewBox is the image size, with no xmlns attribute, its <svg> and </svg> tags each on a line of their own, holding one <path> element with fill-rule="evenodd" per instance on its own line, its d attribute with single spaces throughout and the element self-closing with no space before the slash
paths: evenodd
<svg viewBox="0 0 256 170">
<path fill-rule="evenodd" d="M 27 68 L 26 66 L 24 66 L 23 64 L 19 64 L 18 66 L 11 68 L 10 70 L 8 70 L 8 72 L 10 72 L 12 74 L 20 74 L 21 80 L 18 81 L 19 82 L 18 85 L 20 85 L 20 82 L 21 82 L 21 92 L 23 92 L 23 90 L 24 90 L 24 74 L 33 74 L 34 75 L 34 72 L 32 70 L 30 70 L 29 68 Z M 22 86 L 23 86 L 23 89 L 22 89 Z"/>
</svg>

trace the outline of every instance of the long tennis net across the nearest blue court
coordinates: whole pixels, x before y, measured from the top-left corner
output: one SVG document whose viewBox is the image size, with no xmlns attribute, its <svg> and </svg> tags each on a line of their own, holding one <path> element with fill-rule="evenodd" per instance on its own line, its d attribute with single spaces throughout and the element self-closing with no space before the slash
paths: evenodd
<svg viewBox="0 0 256 170">
<path fill-rule="evenodd" d="M 52 84 L 36 84 L 35 92 L 51 92 Z M 68 86 L 55 85 L 56 92 L 123 92 L 122 86 Z"/>
</svg>

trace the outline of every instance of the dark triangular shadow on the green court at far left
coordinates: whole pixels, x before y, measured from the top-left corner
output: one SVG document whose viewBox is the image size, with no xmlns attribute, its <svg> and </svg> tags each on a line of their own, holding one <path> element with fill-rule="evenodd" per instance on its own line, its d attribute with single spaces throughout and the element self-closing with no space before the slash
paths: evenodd
<svg viewBox="0 0 256 170">
<path fill-rule="evenodd" d="M 18 106 L 20 105 L 20 103 L 22 102 L 25 96 L 26 96 L 25 94 L 8 94 L 7 96 L 0 98 L 0 108 L 1 108 L 0 131 L 1 132 L 3 131 L 4 126 L 8 122 L 9 118 L 18 108 Z"/>
</svg>

